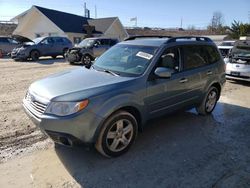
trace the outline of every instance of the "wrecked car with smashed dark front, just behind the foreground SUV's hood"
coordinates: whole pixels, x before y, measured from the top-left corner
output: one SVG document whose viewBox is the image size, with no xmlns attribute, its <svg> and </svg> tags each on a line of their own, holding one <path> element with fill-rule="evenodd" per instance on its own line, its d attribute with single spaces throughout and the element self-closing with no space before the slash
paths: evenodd
<svg viewBox="0 0 250 188">
<path fill-rule="evenodd" d="M 118 40 L 112 38 L 87 38 L 70 49 L 66 54 L 66 59 L 71 64 L 89 65 L 92 60 L 102 55 L 116 43 L 118 43 Z"/>
</svg>

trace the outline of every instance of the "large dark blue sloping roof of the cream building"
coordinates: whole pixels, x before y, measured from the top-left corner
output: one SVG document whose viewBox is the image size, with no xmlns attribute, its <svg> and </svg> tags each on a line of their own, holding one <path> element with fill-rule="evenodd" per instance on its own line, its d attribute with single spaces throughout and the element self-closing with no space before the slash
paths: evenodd
<svg viewBox="0 0 250 188">
<path fill-rule="evenodd" d="M 88 20 L 92 20 L 91 18 L 86 18 L 83 16 L 78 16 L 66 12 L 47 9 L 39 6 L 34 6 L 34 7 L 36 7 L 46 17 L 48 17 L 54 24 L 56 24 L 64 32 L 86 33 L 86 31 L 83 29 L 83 25 L 89 25 Z M 97 29 L 95 29 L 93 33 L 100 33 L 100 31 L 97 31 Z"/>
</svg>

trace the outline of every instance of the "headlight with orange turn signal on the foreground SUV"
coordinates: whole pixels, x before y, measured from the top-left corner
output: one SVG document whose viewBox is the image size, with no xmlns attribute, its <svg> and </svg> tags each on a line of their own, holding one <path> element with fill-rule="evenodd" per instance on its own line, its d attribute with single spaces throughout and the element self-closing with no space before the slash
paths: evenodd
<svg viewBox="0 0 250 188">
<path fill-rule="evenodd" d="M 67 116 L 83 110 L 87 107 L 88 103 L 88 100 L 80 102 L 51 102 L 46 109 L 46 113 Z"/>
</svg>

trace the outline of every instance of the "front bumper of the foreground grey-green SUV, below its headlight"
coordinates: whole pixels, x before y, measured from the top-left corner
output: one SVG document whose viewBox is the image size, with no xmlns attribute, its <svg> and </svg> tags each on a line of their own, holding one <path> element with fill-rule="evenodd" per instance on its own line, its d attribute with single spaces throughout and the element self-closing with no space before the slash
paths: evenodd
<svg viewBox="0 0 250 188">
<path fill-rule="evenodd" d="M 95 142 L 95 133 L 103 118 L 87 109 L 65 117 L 42 114 L 37 116 L 24 102 L 24 110 L 41 131 L 52 140 L 64 145 L 72 145 L 75 141 L 85 144 Z"/>
</svg>

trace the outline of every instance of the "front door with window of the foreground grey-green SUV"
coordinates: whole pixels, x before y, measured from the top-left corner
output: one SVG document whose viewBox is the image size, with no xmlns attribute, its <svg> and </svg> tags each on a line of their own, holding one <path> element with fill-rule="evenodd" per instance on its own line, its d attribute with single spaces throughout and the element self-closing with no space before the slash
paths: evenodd
<svg viewBox="0 0 250 188">
<path fill-rule="evenodd" d="M 171 57 L 172 56 L 172 57 Z M 186 84 L 187 74 L 182 72 L 181 48 L 174 47 L 164 51 L 157 62 L 157 67 L 172 69 L 170 78 L 157 78 L 147 81 L 147 110 L 151 117 L 157 117 L 167 112 L 184 107 L 191 100 Z M 154 69 L 152 71 L 154 74 Z"/>
</svg>

